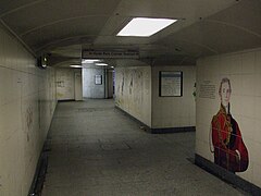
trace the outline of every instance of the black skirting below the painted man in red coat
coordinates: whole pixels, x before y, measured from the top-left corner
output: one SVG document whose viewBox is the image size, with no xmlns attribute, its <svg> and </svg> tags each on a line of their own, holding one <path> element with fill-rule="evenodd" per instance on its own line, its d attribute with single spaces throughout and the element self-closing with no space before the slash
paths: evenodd
<svg viewBox="0 0 261 196">
<path fill-rule="evenodd" d="M 239 177 L 238 175 L 219 167 L 217 164 L 209 161 L 208 159 L 195 154 L 195 164 L 204 169 L 206 171 L 212 173 L 213 175 L 222 179 L 223 181 L 231 183 L 238 188 L 244 189 L 245 192 L 250 193 L 251 195 L 261 195 L 261 188 L 254 184 Z"/>
</svg>

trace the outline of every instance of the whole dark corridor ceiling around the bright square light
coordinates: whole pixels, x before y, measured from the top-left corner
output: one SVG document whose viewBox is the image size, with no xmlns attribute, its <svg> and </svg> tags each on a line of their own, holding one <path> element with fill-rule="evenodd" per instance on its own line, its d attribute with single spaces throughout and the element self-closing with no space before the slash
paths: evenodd
<svg viewBox="0 0 261 196">
<path fill-rule="evenodd" d="M 137 16 L 178 22 L 148 38 L 117 37 Z M 1 0 L 0 20 L 57 66 L 80 63 L 83 49 L 140 53 L 113 65 L 194 65 L 200 57 L 261 47 L 261 0 Z"/>
</svg>

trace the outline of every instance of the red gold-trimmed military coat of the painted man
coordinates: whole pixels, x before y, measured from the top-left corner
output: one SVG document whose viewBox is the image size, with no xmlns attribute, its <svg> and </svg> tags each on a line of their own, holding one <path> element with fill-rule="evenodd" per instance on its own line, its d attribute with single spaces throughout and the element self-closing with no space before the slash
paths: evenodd
<svg viewBox="0 0 261 196">
<path fill-rule="evenodd" d="M 221 106 L 211 124 L 214 162 L 232 172 L 246 171 L 248 150 L 243 142 L 237 122 Z"/>
</svg>

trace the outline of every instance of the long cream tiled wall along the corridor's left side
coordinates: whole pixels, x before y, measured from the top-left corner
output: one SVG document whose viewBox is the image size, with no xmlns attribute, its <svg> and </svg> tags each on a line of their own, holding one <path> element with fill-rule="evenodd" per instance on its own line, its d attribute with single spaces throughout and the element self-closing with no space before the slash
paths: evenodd
<svg viewBox="0 0 261 196">
<path fill-rule="evenodd" d="M 0 27 L 0 195 L 26 196 L 55 109 L 53 69 Z"/>
</svg>

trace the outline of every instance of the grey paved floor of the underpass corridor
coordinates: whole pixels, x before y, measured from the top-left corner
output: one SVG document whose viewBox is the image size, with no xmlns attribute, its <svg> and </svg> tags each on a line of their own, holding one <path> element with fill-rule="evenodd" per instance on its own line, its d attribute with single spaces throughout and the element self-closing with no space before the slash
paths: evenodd
<svg viewBox="0 0 261 196">
<path fill-rule="evenodd" d="M 44 196 L 246 195 L 192 164 L 195 133 L 149 134 L 112 100 L 60 102 Z"/>
</svg>

